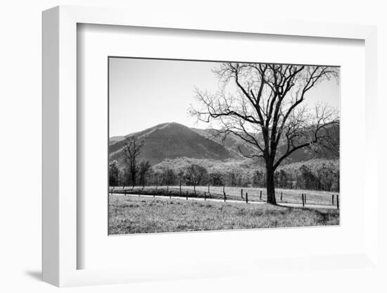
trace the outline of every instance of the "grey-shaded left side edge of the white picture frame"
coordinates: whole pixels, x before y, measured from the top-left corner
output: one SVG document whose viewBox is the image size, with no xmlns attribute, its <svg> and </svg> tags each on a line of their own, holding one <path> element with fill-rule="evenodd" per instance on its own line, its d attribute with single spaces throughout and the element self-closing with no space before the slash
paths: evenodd
<svg viewBox="0 0 387 293">
<path fill-rule="evenodd" d="M 59 285 L 59 8 L 42 13 L 42 280 Z"/>
</svg>

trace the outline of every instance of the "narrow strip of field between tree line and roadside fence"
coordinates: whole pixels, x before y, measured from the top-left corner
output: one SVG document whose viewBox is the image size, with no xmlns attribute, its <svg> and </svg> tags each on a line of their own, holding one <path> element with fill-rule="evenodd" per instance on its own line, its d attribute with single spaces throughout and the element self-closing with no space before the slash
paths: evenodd
<svg viewBox="0 0 387 293">
<path fill-rule="evenodd" d="M 243 189 L 243 198 L 241 197 L 241 189 Z M 111 190 L 111 188 L 110 188 Z M 260 192 L 262 191 L 262 199 L 260 199 Z M 115 187 L 114 192 L 127 194 L 156 194 L 156 195 L 170 195 L 171 197 L 206 197 L 214 199 L 223 199 L 223 187 L 210 187 L 210 193 L 208 193 L 208 186 L 197 186 L 196 193 L 193 186 L 182 186 L 182 193 L 180 193 L 179 186 L 170 187 Z M 244 200 L 246 192 L 248 193 L 248 201 L 266 201 L 266 189 L 259 187 L 224 187 L 227 199 Z M 282 201 L 281 201 L 282 192 Z M 332 205 L 332 194 L 334 197 L 334 205 L 336 206 L 336 194 L 337 192 L 324 192 L 314 190 L 300 190 L 300 189 L 276 189 L 277 203 L 284 204 L 302 204 L 301 194 L 307 194 L 306 204 L 316 204 L 323 206 Z"/>
</svg>

